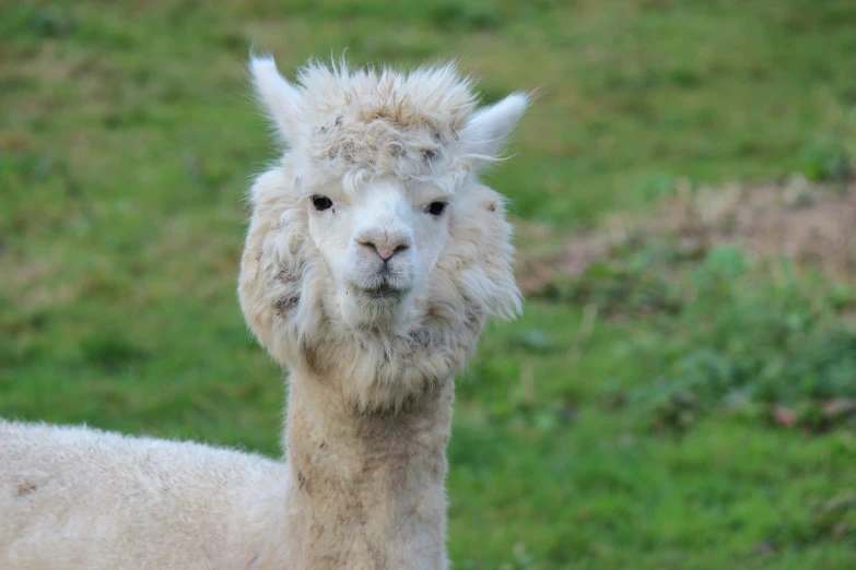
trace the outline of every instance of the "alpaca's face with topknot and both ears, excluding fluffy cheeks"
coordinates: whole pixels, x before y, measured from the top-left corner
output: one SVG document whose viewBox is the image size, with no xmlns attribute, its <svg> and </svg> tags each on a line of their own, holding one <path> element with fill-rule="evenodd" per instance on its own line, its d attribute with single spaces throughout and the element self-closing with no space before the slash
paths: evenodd
<svg viewBox="0 0 856 570">
<path fill-rule="evenodd" d="M 450 66 L 378 73 L 310 64 L 298 86 L 270 59 L 254 60 L 251 71 L 289 143 L 293 178 L 283 191 L 304 201 L 335 311 L 352 326 L 412 316 L 454 240 L 450 211 L 497 159 L 526 96 L 477 110 L 469 81 Z"/>
</svg>

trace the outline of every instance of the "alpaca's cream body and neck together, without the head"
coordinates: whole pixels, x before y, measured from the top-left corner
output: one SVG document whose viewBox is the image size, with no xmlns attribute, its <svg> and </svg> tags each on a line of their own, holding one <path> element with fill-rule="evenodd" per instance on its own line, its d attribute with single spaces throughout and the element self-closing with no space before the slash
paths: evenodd
<svg viewBox="0 0 856 570">
<path fill-rule="evenodd" d="M 445 568 L 452 382 L 395 417 L 309 413 L 333 401 L 292 391 L 289 462 L 0 420 L 2 568 Z"/>
</svg>

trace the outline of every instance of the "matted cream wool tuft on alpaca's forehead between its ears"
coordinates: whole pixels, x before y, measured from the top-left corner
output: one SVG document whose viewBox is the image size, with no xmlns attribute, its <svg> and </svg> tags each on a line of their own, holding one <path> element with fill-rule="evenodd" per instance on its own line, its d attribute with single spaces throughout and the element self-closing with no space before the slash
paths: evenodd
<svg viewBox="0 0 856 570">
<path fill-rule="evenodd" d="M 297 81 L 309 158 L 338 175 L 447 173 L 457 131 L 476 107 L 471 80 L 452 63 L 400 72 L 313 62 Z"/>
</svg>

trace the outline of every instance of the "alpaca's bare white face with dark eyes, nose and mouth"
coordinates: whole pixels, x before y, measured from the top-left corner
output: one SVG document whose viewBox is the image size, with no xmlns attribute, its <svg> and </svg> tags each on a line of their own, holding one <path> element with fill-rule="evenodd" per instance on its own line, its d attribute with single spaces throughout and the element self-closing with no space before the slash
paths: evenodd
<svg viewBox="0 0 856 570">
<path fill-rule="evenodd" d="M 306 202 L 309 237 L 351 325 L 394 323 L 424 298 L 448 238 L 449 197 L 434 185 L 392 177 L 352 195 L 327 191 Z"/>
</svg>

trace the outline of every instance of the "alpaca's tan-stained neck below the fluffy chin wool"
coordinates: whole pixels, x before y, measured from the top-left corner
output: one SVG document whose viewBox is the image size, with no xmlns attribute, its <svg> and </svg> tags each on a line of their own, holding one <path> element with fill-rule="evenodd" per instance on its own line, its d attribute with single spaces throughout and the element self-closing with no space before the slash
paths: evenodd
<svg viewBox="0 0 856 570">
<path fill-rule="evenodd" d="M 345 380 L 347 381 L 347 380 Z M 454 381 L 360 414 L 338 382 L 292 375 L 285 539 L 301 569 L 445 569 Z"/>
</svg>

